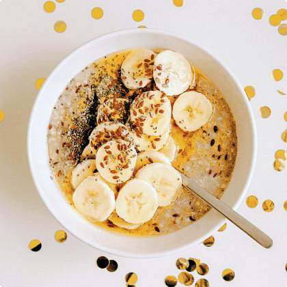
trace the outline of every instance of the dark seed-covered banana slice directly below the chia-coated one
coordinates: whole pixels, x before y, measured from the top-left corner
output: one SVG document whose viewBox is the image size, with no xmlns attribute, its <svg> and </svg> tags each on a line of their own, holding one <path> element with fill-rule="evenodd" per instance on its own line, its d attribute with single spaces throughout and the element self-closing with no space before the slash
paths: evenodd
<svg viewBox="0 0 287 287">
<path fill-rule="evenodd" d="M 128 119 L 129 101 L 124 98 L 113 98 L 106 100 L 98 107 L 98 116 L 96 122 L 122 122 L 123 124 Z"/>
</svg>

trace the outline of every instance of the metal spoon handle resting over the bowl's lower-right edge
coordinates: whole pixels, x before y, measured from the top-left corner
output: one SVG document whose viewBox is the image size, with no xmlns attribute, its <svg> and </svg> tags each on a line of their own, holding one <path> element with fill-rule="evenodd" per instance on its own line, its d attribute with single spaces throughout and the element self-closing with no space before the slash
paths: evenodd
<svg viewBox="0 0 287 287">
<path fill-rule="evenodd" d="M 232 223 L 234 223 L 238 228 L 243 230 L 260 245 L 265 248 L 272 247 L 273 241 L 267 234 L 265 234 L 259 228 L 247 221 L 247 219 L 236 213 L 236 211 L 234 211 L 232 208 L 221 202 L 221 200 L 218 200 L 217 197 L 213 196 L 205 189 L 202 189 L 202 187 L 187 178 L 187 176 L 184 176 L 184 174 L 182 174 L 181 172 L 179 173 L 182 177 L 182 185 L 184 185 L 184 187 L 187 187 L 187 189 L 202 198 L 204 202 L 215 208 L 215 210 L 221 213 L 221 215 L 229 219 Z"/>
</svg>

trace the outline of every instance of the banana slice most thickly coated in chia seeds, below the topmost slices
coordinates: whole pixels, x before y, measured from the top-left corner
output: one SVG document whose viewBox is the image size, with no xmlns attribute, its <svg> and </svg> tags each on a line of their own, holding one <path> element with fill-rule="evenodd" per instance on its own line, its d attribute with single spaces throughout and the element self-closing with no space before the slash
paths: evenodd
<svg viewBox="0 0 287 287">
<path fill-rule="evenodd" d="M 124 98 L 127 92 L 128 90 L 126 90 L 126 87 L 122 84 L 120 79 L 114 79 L 107 74 L 102 77 L 102 81 L 100 81 L 96 88 L 96 96 L 98 97 L 98 102 L 100 102 L 100 104 L 109 99 Z"/>
</svg>

